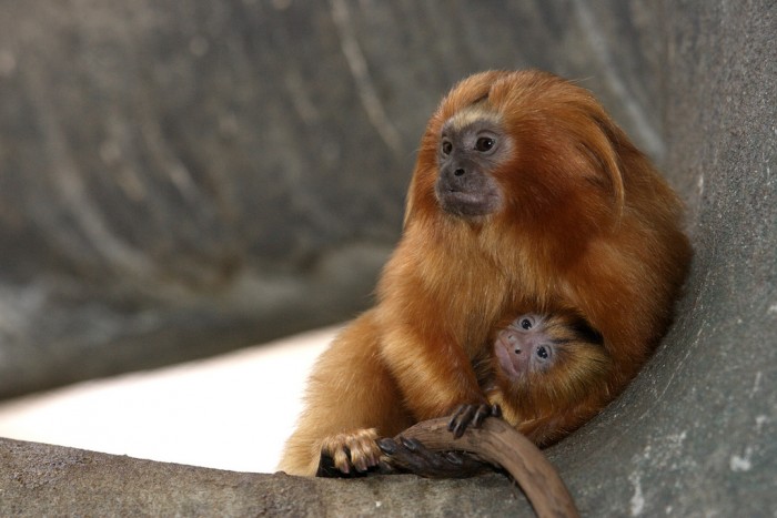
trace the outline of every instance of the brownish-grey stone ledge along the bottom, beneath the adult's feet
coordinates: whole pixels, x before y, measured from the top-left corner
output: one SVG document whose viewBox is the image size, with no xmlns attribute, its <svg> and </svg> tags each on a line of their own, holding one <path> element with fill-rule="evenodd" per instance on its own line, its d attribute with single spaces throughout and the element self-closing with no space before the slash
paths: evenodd
<svg viewBox="0 0 777 518">
<path fill-rule="evenodd" d="M 527 512 L 501 475 L 357 484 L 241 474 L 0 439 L 2 516 L 507 516 Z"/>
</svg>

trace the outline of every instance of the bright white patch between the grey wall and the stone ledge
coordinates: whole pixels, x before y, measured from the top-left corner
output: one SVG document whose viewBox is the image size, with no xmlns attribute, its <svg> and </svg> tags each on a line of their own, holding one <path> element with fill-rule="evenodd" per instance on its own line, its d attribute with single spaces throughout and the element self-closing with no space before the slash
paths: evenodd
<svg viewBox="0 0 777 518">
<path fill-rule="evenodd" d="M 0 437 L 274 473 L 335 328 L 0 404 Z"/>
</svg>

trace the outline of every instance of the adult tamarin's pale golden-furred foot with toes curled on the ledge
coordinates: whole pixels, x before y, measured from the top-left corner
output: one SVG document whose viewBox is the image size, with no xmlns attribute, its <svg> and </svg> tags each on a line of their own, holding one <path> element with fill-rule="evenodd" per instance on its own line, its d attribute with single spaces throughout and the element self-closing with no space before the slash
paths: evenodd
<svg viewBox="0 0 777 518">
<path fill-rule="evenodd" d="M 317 477 L 354 477 L 373 470 L 381 463 L 375 428 L 337 434 L 321 446 Z"/>
</svg>

